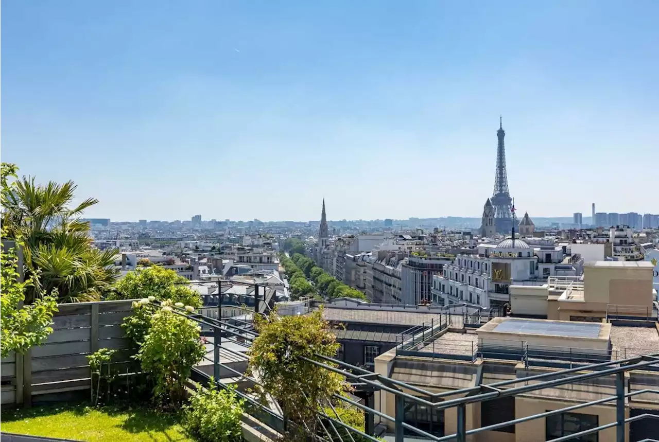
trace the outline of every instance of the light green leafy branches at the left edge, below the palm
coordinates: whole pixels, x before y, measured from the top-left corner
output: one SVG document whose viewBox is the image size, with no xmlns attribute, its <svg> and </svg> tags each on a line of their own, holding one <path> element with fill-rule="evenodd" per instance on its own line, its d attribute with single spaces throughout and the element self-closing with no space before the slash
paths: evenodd
<svg viewBox="0 0 659 442">
<path fill-rule="evenodd" d="M 1 229 L 0 235 L 4 234 Z M 34 304 L 21 306 L 26 287 L 32 281 L 19 283 L 17 267 L 15 250 L 5 252 L 0 243 L 0 359 L 11 351 L 22 353 L 40 345 L 53 332 L 53 314 L 57 312 L 54 296 L 44 296 Z"/>
</svg>

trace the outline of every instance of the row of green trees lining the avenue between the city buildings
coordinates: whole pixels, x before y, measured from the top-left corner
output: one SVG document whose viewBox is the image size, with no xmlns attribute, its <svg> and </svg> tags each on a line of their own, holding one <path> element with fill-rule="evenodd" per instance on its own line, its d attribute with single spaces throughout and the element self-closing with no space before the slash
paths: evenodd
<svg viewBox="0 0 659 442">
<path fill-rule="evenodd" d="M 364 293 L 329 275 L 321 267 L 318 267 L 311 258 L 302 254 L 294 254 L 293 258 L 283 256 L 281 263 L 289 277 L 293 296 L 318 294 L 328 299 L 356 298 L 366 300 Z M 310 285 L 309 280 L 313 281 L 314 285 Z"/>
</svg>

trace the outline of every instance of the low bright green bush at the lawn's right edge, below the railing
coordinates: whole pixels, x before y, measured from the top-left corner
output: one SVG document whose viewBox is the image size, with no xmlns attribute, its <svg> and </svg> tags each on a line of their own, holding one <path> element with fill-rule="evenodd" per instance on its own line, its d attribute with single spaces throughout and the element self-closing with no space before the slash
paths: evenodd
<svg viewBox="0 0 659 442">
<path fill-rule="evenodd" d="M 209 385 L 215 385 L 213 377 Z M 203 442 L 242 441 L 244 399 L 239 399 L 234 389 L 235 385 L 227 389 L 206 389 L 197 384 L 190 403 L 184 407 L 188 432 Z"/>
</svg>

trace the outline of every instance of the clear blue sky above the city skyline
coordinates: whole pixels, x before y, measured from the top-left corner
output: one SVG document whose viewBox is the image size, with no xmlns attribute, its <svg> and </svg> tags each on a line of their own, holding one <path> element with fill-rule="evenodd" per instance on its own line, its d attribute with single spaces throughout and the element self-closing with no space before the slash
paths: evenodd
<svg viewBox="0 0 659 442">
<path fill-rule="evenodd" d="M 0 152 L 115 220 L 659 212 L 659 2 L 0 3 Z M 654 170 L 654 172 L 653 172 Z M 645 183 L 644 183 L 645 182 Z"/>
</svg>

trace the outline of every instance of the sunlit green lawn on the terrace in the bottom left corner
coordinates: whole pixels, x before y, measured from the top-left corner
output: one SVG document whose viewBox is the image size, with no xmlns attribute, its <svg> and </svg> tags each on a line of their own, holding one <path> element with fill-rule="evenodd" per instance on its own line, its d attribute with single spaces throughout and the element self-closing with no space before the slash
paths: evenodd
<svg viewBox="0 0 659 442">
<path fill-rule="evenodd" d="M 0 431 L 79 441 L 193 442 L 177 417 L 142 408 L 55 406 L 0 411 Z"/>
</svg>

